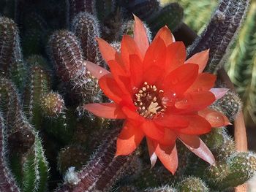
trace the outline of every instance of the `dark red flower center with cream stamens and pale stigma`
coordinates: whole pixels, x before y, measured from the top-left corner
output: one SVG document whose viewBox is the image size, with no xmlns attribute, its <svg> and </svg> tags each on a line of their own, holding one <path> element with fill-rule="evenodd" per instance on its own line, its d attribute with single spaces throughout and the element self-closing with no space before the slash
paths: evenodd
<svg viewBox="0 0 256 192">
<path fill-rule="evenodd" d="M 148 85 L 144 82 L 142 88 L 135 93 L 134 104 L 138 107 L 138 114 L 144 118 L 154 118 L 165 111 L 166 106 L 162 104 L 164 91 L 158 90 L 156 85 Z"/>
</svg>

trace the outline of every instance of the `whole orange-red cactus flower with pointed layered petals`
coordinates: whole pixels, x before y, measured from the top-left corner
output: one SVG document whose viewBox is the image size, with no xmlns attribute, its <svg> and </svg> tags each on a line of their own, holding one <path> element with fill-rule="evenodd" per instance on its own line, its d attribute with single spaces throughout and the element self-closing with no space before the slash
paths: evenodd
<svg viewBox="0 0 256 192">
<path fill-rule="evenodd" d="M 161 28 L 149 45 L 146 29 L 137 17 L 134 37 L 123 37 L 121 53 L 103 39 L 98 43 L 110 72 L 89 61 L 86 66 L 113 102 L 85 104 L 84 108 L 102 118 L 125 119 L 116 142 L 116 156 L 129 155 L 146 137 L 151 165 L 158 157 L 174 174 L 179 139 L 193 153 L 214 164 L 214 156 L 198 135 L 229 121 L 208 108 L 227 91 L 211 89 L 216 76 L 203 73 L 208 50 L 185 61 L 184 44 L 175 42 L 167 27 Z"/>
</svg>

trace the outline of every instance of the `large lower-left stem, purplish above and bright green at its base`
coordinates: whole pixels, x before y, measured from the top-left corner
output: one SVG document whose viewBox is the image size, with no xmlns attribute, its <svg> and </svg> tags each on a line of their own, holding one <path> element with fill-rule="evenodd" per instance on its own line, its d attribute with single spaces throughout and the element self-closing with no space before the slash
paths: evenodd
<svg viewBox="0 0 256 192">
<path fill-rule="evenodd" d="M 10 164 L 15 179 L 21 191 L 45 191 L 48 164 L 38 134 L 26 120 L 18 93 L 12 82 L 1 78 L 0 87 L 0 107 L 8 123 L 8 141 L 12 149 Z M 18 171 L 15 171 L 17 167 Z"/>
</svg>

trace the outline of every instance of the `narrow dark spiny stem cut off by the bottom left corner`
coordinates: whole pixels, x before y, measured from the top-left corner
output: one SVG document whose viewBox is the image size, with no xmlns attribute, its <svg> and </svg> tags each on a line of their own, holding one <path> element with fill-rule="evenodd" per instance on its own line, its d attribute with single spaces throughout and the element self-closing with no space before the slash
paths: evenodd
<svg viewBox="0 0 256 192">
<path fill-rule="evenodd" d="M 20 192 L 15 179 L 8 168 L 7 132 L 4 119 L 0 114 L 0 191 Z"/>
</svg>

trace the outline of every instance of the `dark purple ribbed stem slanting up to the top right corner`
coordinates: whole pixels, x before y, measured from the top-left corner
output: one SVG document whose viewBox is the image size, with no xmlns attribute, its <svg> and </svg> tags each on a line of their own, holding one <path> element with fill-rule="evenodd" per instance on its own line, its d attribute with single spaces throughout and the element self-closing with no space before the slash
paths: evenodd
<svg viewBox="0 0 256 192">
<path fill-rule="evenodd" d="M 206 72 L 216 72 L 222 67 L 223 56 L 244 18 L 249 0 L 222 0 L 210 23 L 189 49 L 188 58 L 202 50 L 210 49 Z"/>
</svg>

